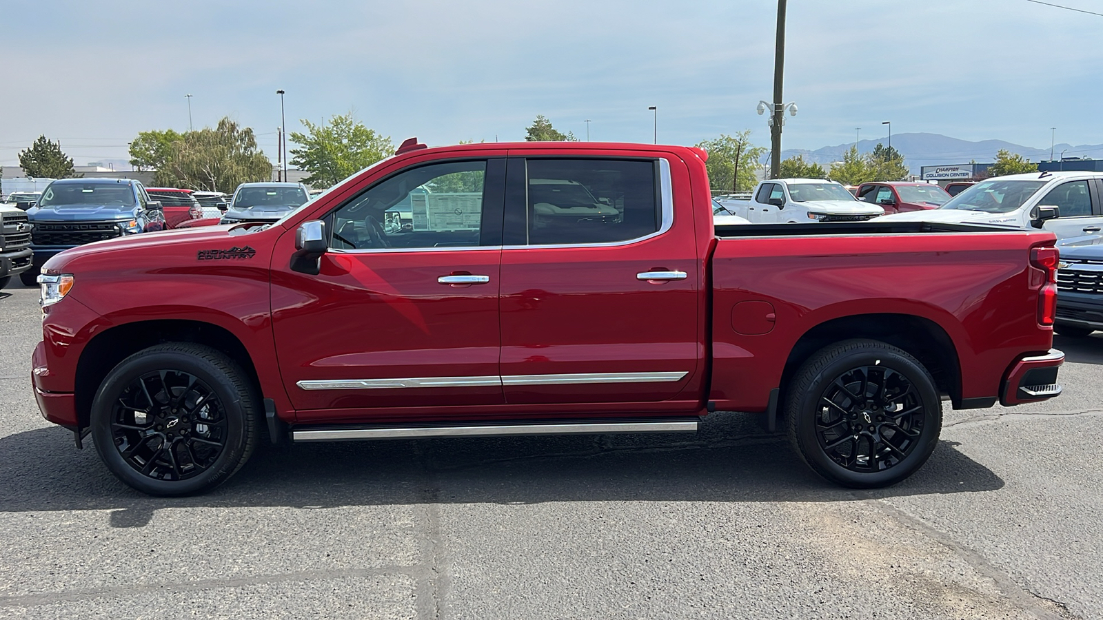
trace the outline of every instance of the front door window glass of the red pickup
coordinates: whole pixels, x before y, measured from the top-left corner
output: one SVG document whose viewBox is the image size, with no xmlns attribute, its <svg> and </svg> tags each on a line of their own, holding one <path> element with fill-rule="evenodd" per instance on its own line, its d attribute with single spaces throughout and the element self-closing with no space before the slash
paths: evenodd
<svg viewBox="0 0 1103 620">
<path fill-rule="evenodd" d="M 333 249 L 480 245 L 485 161 L 400 172 L 339 207 L 326 221 Z"/>
</svg>

